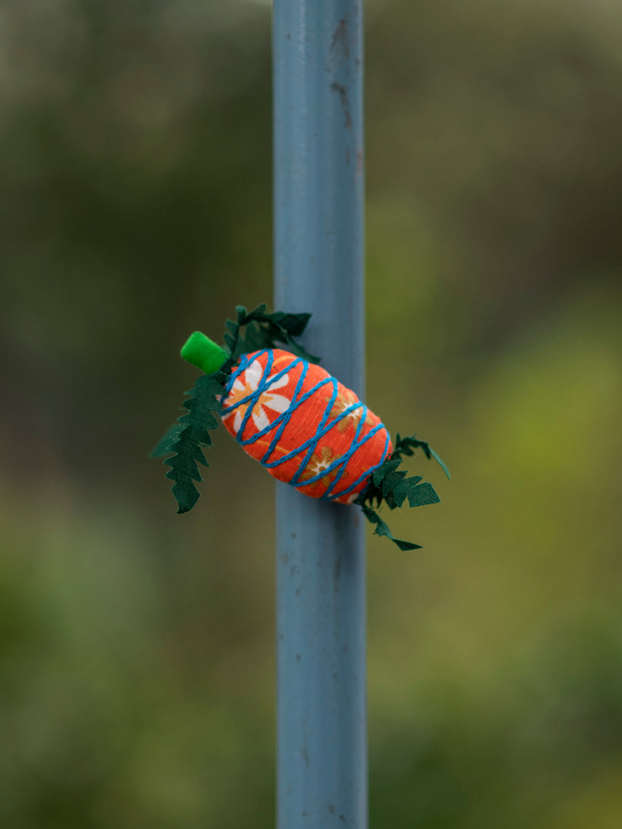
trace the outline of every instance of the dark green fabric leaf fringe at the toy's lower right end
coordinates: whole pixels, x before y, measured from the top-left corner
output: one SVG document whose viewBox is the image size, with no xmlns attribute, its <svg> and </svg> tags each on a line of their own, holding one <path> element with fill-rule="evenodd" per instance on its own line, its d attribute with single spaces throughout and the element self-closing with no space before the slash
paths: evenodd
<svg viewBox="0 0 622 829">
<path fill-rule="evenodd" d="M 412 435 L 410 438 L 401 438 L 398 434 L 393 452 L 372 473 L 367 487 L 354 502 L 362 508 L 363 515 L 367 518 L 367 521 L 376 525 L 374 533 L 377 536 L 386 536 L 391 539 L 400 550 L 418 550 L 420 549 L 420 545 L 413 544 L 411 541 L 401 541 L 401 539 L 393 536 L 385 521 L 382 521 L 373 507 L 380 507 L 381 503 L 384 502 L 390 510 L 395 510 L 397 507 L 401 507 L 405 501 L 408 501 L 409 507 L 424 507 L 426 504 L 438 504 L 440 502 L 440 497 L 437 495 L 431 483 L 420 483 L 420 475 L 413 475 L 411 478 L 407 478 L 406 469 L 400 468 L 402 455 L 414 454 L 415 448 L 423 449 L 426 458 L 434 458 L 449 478 L 449 469 L 435 453 L 434 449 L 430 447 L 430 444 L 425 440 L 417 440 L 415 435 Z"/>
</svg>

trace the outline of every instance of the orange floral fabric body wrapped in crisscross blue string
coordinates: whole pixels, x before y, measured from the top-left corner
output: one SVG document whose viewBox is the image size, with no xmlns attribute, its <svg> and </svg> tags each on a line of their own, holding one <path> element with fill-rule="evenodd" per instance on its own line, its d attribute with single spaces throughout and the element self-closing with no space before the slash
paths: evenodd
<svg viewBox="0 0 622 829">
<path fill-rule="evenodd" d="M 289 351 L 241 357 L 222 405 L 222 421 L 245 452 L 314 498 L 351 503 L 391 453 L 386 428 L 357 395 Z"/>
</svg>

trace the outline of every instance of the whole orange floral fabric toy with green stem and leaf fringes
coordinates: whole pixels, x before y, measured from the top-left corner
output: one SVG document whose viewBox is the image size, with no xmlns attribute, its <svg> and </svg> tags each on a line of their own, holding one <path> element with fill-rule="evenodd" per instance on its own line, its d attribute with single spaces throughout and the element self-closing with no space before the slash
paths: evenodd
<svg viewBox="0 0 622 829">
<path fill-rule="evenodd" d="M 435 458 L 449 478 L 445 464 L 415 436 L 398 434 L 393 447 L 377 415 L 304 351 L 294 337 L 304 331 L 310 314 L 266 313 L 265 305 L 250 313 L 241 306 L 236 311 L 236 322 L 226 322 L 227 350 L 200 332 L 182 348 L 182 357 L 205 373 L 187 392 L 187 414 L 151 453 L 166 457 L 171 467 L 167 478 L 175 482 L 177 512 L 197 502 L 195 482 L 202 481 L 197 462 L 208 466 L 202 447 L 211 445 L 208 430 L 216 428 L 219 414 L 245 452 L 279 481 L 313 498 L 357 504 L 377 535 L 401 550 L 419 547 L 394 538 L 374 502 L 390 509 L 406 501 L 411 507 L 440 502 L 430 483 L 407 477 L 399 467 L 402 456 L 415 448 Z M 275 347 L 278 343 L 284 348 Z"/>
</svg>

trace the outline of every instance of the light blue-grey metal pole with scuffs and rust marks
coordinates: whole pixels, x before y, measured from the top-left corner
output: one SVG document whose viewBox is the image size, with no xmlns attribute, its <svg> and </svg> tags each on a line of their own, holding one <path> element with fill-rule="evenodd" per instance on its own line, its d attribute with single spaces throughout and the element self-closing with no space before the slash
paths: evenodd
<svg viewBox="0 0 622 829">
<path fill-rule="evenodd" d="M 275 0 L 275 308 L 364 393 L 362 3 Z M 367 827 L 357 507 L 277 483 L 278 827 Z"/>
</svg>

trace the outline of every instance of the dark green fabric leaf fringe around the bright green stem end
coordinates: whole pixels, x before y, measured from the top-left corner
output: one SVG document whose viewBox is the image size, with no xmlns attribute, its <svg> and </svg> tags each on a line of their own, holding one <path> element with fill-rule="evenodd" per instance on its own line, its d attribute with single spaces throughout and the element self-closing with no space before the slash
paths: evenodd
<svg viewBox="0 0 622 829">
<path fill-rule="evenodd" d="M 208 429 L 217 429 L 219 420 L 214 413 L 221 410 L 221 396 L 224 393 L 227 377 L 242 354 L 259 351 L 262 348 L 274 348 L 278 342 L 284 343 L 288 351 L 310 362 L 318 362 L 294 341 L 299 337 L 309 322 L 309 313 L 265 313 L 265 305 L 260 305 L 250 313 L 238 305 L 236 322 L 226 321 L 225 342 L 231 356 L 219 371 L 202 375 L 187 391 L 187 400 L 182 406 L 187 410 L 177 418 L 177 423 L 158 440 L 150 458 L 167 458 L 164 463 L 171 467 L 167 478 L 174 481 L 173 495 L 177 500 L 177 512 L 188 512 L 197 503 L 199 491 L 195 481 L 203 480 L 197 463 L 209 466 L 202 447 L 211 446 Z M 244 334 L 241 329 L 245 328 Z M 173 457 L 168 457 L 168 456 Z"/>
</svg>

